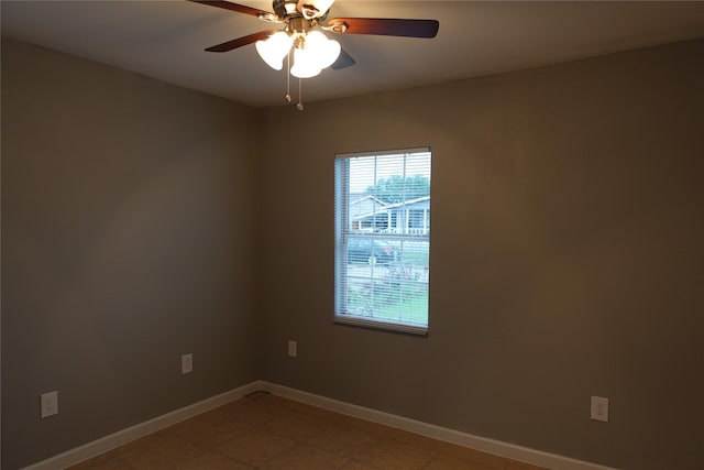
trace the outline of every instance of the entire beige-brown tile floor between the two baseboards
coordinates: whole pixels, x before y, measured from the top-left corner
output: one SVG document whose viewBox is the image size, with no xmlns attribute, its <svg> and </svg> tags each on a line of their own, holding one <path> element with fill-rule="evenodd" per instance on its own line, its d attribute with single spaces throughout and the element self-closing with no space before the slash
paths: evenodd
<svg viewBox="0 0 704 470">
<path fill-rule="evenodd" d="M 255 393 L 72 470 L 540 470 L 416 434 Z"/>
</svg>

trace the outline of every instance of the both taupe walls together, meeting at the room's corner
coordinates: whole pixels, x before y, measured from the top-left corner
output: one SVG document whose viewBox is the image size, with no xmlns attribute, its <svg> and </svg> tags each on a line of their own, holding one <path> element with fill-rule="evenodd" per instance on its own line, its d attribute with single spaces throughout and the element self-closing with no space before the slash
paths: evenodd
<svg viewBox="0 0 704 470">
<path fill-rule="evenodd" d="M 3 468 L 253 379 L 613 467 L 698 468 L 702 56 L 698 41 L 299 113 L 3 40 Z M 290 140 L 255 147 L 268 129 Z M 430 334 L 336 326 L 332 157 L 422 145 Z M 62 414 L 40 422 L 54 389 Z M 592 394 L 610 423 L 588 419 Z"/>
</svg>

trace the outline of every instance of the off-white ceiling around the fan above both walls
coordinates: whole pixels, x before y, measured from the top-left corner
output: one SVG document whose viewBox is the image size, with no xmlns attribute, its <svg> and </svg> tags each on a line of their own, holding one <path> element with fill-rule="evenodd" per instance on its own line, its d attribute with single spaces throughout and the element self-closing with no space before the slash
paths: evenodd
<svg viewBox="0 0 704 470">
<path fill-rule="evenodd" d="M 239 3 L 272 11 L 271 1 Z M 6 1 L 2 34 L 253 107 L 284 105 L 286 75 L 253 45 L 204 48 L 263 29 L 187 1 Z M 704 1 L 358 1 L 331 17 L 440 21 L 432 40 L 334 34 L 356 61 L 304 80 L 305 101 L 404 89 L 704 37 Z M 329 33 L 333 35 L 332 33 Z M 292 81 L 294 98 L 297 79 Z"/>
</svg>

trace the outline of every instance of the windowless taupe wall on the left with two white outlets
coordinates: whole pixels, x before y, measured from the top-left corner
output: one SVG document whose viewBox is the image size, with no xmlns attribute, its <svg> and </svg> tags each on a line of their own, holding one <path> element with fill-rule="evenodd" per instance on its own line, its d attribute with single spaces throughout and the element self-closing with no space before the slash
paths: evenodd
<svg viewBox="0 0 704 470">
<path fill-rule="evenodd" d="M 3 469 L 257 378 L 251 116 L 3 39 Z"/>
</svg>

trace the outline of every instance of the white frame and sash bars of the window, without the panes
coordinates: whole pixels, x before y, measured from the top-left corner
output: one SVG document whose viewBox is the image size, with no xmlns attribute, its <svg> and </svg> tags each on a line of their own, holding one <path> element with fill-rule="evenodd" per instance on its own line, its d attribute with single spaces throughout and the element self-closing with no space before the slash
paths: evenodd
<svg viewBox="0 0 704 470">
<path fill-rule="evenodd" d="M 428 247 L 428 261 L 426 266 L 426 282 L 427 282 L 427 315 L 425 324 L 394 321 L 388 318 L 380 318 L 372 316 L 354 315 L 343 311 L 343 307 L 348 305 L 348 249 L 345 240 L 352 239 L 365 239 L 366 236 L 353 233 L 349 228 L 350 221 L 350 162 L 354 157 L 365 156 L 392 156 L 404 155 L 404 159 L 416 153 L 428 153 L 428 178 L 430 181 L 430 194 L 428 196 L 428 220 L 427 220 L 427 233 L 421 236 L 409 233 L 394 233 L 382 234 L 375 233 L 372 238 L 372 242 L 375 240 L 392 240 L 392 241 L 418 241 L 422 240 L 427 242 Z M 375 162 L 375 168 L 377 163 Z M 405 177 L 411 177 L 413 175 L 406 174 Z M 432 151 L 430 146 L 425 147 L 411 147 L 411 149 L 394 149 L 387 151 L 376 152 L 355 152 L 336 154 L 334 159 L 334 314 L 333 321 L 340 325 L 349 325 L 363 328 L 372 328 L 393 332 L 404 332 L 417 336 L 428 336 L 430 326 L 430 245 L 431 245 L 431 230 L 430 230 L 430 206 L 432 194 Z M 374 184 L 378 182 L 376 175 L 374 176 Z M 424 226 L 426 231 L 426 226 Z M 399 291 L 394 291 L 399 292 Z"/>
</svg>

